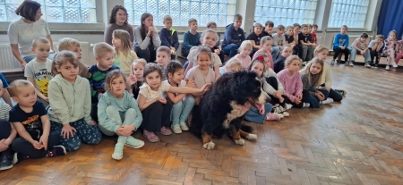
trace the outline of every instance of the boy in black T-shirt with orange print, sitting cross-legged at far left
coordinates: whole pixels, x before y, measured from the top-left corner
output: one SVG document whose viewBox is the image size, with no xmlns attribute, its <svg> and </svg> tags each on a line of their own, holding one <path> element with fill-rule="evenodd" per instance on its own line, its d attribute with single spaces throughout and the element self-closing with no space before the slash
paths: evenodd
<svg viewBox="0 0 403 185">
<path fill-rule="evenodd" d="M 13 140 L 13 164 L 27 158 L 64 156 L 65 148 L 59 146 L 60 134 L 50 131 L 50 121 L 45 106 L 37 101 L 35 86 L 28 80 L 14 80 L 10 84 L 13 101 L 17 105 L 10 111 L 18 137 Z"/>
</svg>

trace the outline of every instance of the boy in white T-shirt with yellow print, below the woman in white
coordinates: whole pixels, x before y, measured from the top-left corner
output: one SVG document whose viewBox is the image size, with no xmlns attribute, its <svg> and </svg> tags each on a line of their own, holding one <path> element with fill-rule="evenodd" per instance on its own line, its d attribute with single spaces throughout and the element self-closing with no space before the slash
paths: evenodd
<svg viewBox="0 0 403 185">
<path fill-rule="evenodd" d="M 24 76 L 32 84 L 35 84 L 35 93 L 39 101 L 47 107 L 49 98 L 47 98 L 47 85 L 49 80 L 53 79 L 52 61 L 47 58 L 50 54 L 50 42 L 47 38 L 35 38 L 32 41 L 32 53 L 35 58 L 25 65 Z"/>
</svg>

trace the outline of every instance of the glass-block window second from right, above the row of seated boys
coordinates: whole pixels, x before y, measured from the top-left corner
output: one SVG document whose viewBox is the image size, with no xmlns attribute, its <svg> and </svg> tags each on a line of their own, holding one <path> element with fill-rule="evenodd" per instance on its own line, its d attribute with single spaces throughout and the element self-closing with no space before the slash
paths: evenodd
<svg viewBox="0 0 403 185">
<path fill-rule="evenodd" d="M 289 26 L 294 23 L 312 24 L 317 0 L 257 0 L 254 21 L 273 21 L 274 26 Z"/>
</svg>

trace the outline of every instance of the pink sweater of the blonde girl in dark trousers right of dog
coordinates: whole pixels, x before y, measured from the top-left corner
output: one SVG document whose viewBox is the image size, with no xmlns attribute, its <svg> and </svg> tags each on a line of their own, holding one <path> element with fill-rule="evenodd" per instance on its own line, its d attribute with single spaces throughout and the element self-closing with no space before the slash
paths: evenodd
<svg viewBox="0 0 403 185">
<path fill-rule="evenodd" d="M 296 102 L 296 95 L 302 95 L 303 83 L 299 72 L 295 72 L 292 75 L 287 73 L 287 69 L 279 71 L 277 73 L 279 81 L 283 84 L 285 95 L 292 102 Z"/>
</svg>

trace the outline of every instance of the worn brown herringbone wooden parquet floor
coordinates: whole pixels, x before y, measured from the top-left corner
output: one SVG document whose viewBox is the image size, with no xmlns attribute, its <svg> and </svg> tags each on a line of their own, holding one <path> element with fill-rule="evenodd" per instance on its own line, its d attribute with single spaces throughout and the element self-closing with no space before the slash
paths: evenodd
<svg viewBox="0 0 403 185">
<path fill-rule="evenodd" d="M 66 156 L 16 164 L 0 172 L 0 184 L 403 184 L 403 70 L 330 69 L 333 88 L 347 90 L 341 103 L 248 123 L 258 139 L 244 146 L 224 137 L 206 150 L 184 132 L 126 147 L 115 161 L 116 139 L 104 139 Z"/>
</svg>

